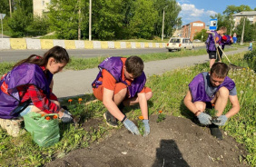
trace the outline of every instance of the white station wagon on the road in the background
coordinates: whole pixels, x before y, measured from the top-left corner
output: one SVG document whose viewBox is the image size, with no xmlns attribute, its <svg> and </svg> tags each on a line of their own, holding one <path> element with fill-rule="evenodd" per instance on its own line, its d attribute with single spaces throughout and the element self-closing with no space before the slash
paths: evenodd
<svg viewBox="0 0 256 167">
<path fill-rule="evenodd" d="M 172 52 L 172 50 L 180 51 L 182 48 L 193 49 L 193 44 L 190 38 L 171 37 L 165 48 L 168 49 L 169 52 Z"/>
</svg>

